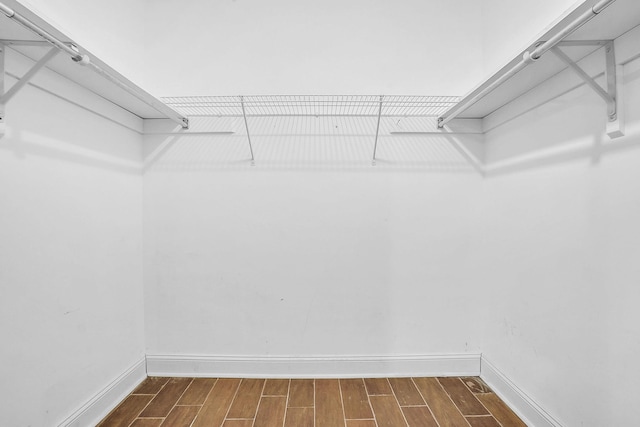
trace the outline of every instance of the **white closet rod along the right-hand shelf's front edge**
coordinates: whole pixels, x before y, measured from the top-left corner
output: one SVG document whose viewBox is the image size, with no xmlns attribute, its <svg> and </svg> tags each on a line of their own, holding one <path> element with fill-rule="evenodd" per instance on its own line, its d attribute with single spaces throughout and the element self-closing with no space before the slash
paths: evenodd
<svg viewBox="0 0 640 427">
<path fill-rule="evenodd" d="M 446 111 L 442 116 L 438 117 L 438 127 L 442 128 L 449 121 L 455 119 L 462 112 L 464 112 L 467 108 L 471 107 L 473 104 L 478 102 L 480 99 L 485 97 L 487 94 L 491 93 L 495 88 L 500 86 L 502 83 L 509 80 L 511 77 L 519 73 L 523 68 L 528 66 L 529 64 L 537 61 L 545 52 L 549 49 L 556 46 L 563 39 L 568 37 L 571 33 L 576 31 L 585 23 L 589 22 L 592 18 L 594 18 L 597 14 L 602 12 L 607 6 L 613 3 L 615 0 L 600 0 L 598 3 L 594 4 L 589 10 L 580 15 L 577 19 L 567 25 L 563 30 L 559 31 L 556 35 L 551 37 L 549 40 L 539 44 L 533 51 L 525 52 L 522 56 L 522 60 L 513 66 L 509 71 L 502 74 L 496 80 L 491 83 L 485 83 L 486 86 L 480 86 L 477 89 L 477 93 L 471 92 L 465 98 L 460 100 L 459 103 L 451 107 L 449 111 Z"/>
</svg>

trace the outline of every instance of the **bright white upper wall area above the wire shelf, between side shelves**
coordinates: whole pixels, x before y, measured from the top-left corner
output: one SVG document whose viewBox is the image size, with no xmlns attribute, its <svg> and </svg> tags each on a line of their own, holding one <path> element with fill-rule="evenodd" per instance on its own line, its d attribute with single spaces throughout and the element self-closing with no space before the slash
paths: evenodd
<svg viewBox="0 0 640 427">
<path fill-rule="evenodd" d="M 574 0 L 20 0 L 156 96 L 462 95 Z"/>
</svg>

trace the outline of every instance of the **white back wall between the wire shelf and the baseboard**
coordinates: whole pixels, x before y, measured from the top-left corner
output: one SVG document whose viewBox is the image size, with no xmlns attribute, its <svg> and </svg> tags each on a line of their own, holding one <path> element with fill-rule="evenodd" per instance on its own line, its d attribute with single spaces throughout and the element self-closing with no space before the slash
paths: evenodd
<svg viewBox="0 0 640 427">
<path fill-rule="evenodd" d="M 343 132 L 256 130 L 254 167 L 242 134 L 148 137 L 148 354 L 478 352 L 479 175 L 441 137 L 374 167 L 373 134 Z"/>
</svg>

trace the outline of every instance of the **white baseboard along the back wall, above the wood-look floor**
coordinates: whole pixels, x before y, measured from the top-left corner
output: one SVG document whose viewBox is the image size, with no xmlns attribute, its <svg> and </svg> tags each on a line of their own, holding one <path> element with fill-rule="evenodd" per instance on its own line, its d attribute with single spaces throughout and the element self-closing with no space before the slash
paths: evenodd
<svg viewBox="0 0 640 427">
<path fill-rule="evenodd" d="M 480 375 L 480 354 L 348 357 L 147 355 L 147 373 L 150 376 L 216 378 L 477 376 Z"/>
</svg>

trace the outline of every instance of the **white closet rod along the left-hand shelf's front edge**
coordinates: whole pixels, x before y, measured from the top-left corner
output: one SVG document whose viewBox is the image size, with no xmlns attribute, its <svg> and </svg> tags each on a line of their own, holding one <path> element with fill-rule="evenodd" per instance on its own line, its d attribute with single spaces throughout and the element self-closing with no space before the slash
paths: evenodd
<svg viewBox="0 0 640 427">
<path fill-rule="evenodd" d="M 111 83 L 117 85 L 124 91 L 128 92 L 130 95 L 133 95 L 134 97 L 144 102 L 145 104 L 149 105 L 159 113 L 162 113 L 165 117 L 178 123 L 183 128 L 189 127 L 189 119 L 178 114 L 172 108 L 168 107 L 166 104 L 155 99 L 148 93 L 144 92 L 142 89 L 129 86 L 128 84 L 123 82 L 121 79 L 119 79 L 117 76 L 114 76 L 110 72 L 94 64 L 93 62 L 91 62 L 91 59 L 89 58 L 88 55 L 81 54 L 76 49 L 74 49 L 75 45 L 73 43 L 65 43 L 59 40 L 55 36 L 51 35 L 49 32 L 45 31 L 43 28 L 34 24 L 29 19 L 20 15 L 15 10 L 11 9 L 10 7 L 8 7 L 2 2 L 0 2 L 0 11 L 4 13 L 7 16 L 7 18 L 13 19 L 14 21 L 18 22 L 25 28 L 36 33 L 37 35 L 39 35 L 40 37 L 42 37 L 43 39 L 45 39 L 46 41 L 48 41 L 49 43 L 51 43 L 52 45 L 60 49 L 61 51 L 65 52 L 75 62 L 93 69 L 95 72 L 100 74 L 105 79 L 109 80 Z"/>
</svg>

